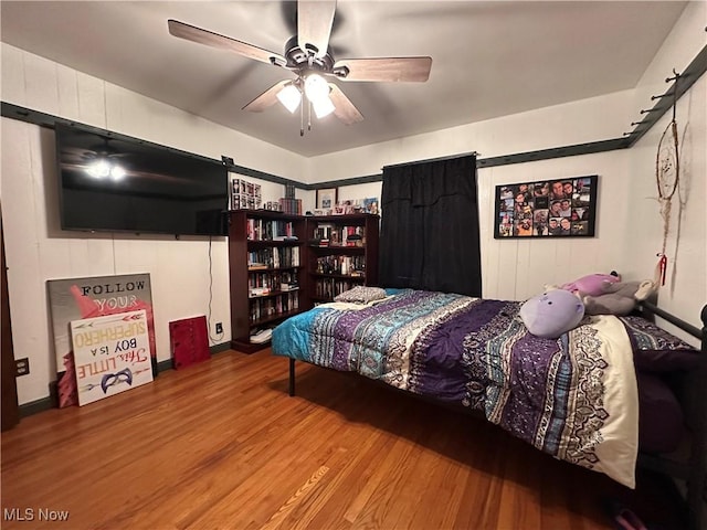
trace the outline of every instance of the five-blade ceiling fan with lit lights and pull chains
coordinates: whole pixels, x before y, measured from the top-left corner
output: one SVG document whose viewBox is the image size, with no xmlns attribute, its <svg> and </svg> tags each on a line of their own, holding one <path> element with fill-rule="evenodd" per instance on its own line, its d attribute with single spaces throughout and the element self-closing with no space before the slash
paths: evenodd
<svg viewBox="0 0 707 530">
<path fill-rule="evenodd" d="M 304 136 L 305 108 L 312 128 L 312 110 L 318 118 L 328 114 L 346 125 L 363 120 L 344 92 L 327 78 L 350 82 L 425 82 L 432 57 L 376 57 L 337 61 L 329 49 L 336 0 L 298 0 L 297 34 L 285 44 L 284 54 L 271 52 L 229 36 L 169 20 L 173 36 L 231 51 L 291 71 L 295 78 L 283 80 L 243 107 L 260 113 L 279 100 L 291 113 L 300 112 L 299 135 Z"/>
</svg>

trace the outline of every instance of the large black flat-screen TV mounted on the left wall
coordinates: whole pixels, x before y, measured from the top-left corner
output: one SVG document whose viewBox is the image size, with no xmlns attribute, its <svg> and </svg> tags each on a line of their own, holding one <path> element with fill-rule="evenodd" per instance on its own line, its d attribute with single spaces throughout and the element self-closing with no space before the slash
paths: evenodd
<svg viewBox="0 0 707 530">
<path fill-rule="evenodd" d="M 77 125 L 54 130 L 62 230 L 225 235 L 220 161 Z"/>
</svg>

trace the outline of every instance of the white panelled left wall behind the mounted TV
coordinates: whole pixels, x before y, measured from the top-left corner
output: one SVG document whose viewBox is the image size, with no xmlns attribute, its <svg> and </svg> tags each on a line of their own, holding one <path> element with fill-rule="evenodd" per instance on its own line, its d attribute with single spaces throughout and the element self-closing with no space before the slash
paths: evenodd
<svg viewBox="0 0 707 530">
<path fill-rule="evenodd" d="M 289 151 L 189 115 L 102 80 L 2 44 L 2 100 L 50 115 L 196 152 L 293 180 L 304 159 Z M 14 354 L 30 360 L 18 379 L 20 404 L 49 395 L 56 361 L 46 280 L 149 273 L 158 361 L 168 360 L 169 322 L 209 315 L 211 343 L 228 342 L 230 299 L 225 237 L 137 236 L 62 232 L 52 130 L 2 118 L 0 198 L 8 261 Z M 251 179 L 257 181 L 257 179 Z M 284 187 L 263 182 L 263 199 L 284 197 Z M 209 258 L 211 254 L 211 262 Z M 224 332 L 217 336 L 215 322 Z"/>
</svg>

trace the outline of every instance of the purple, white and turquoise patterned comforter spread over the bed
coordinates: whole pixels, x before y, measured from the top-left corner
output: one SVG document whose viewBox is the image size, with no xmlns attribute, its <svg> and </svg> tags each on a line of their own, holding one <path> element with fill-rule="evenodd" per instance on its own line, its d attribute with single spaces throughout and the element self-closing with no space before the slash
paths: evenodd
<svg viewBox="0 0 707 530">
<path fill-rule="evenodd" d="M 635 486 L 637 390 L 618 318 L 587 317 L 544 339 L 528 332 L 518 301 L 388 293 L 286 320 L 273 331 L 273 353 L 483 411 L 556 458 Z"/>
</svg>

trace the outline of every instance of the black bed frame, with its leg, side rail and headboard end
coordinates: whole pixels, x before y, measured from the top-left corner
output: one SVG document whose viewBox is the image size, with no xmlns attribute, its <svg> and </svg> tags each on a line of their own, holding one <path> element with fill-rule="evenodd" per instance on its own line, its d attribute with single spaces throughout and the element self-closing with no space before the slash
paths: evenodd
<svg viewBox="0 0 707 530">
<path fill-rule="evenodd" d="M 704 530 L 703 524 L 707 522 L 704 513 L 705 502 L 707 502 L 707 305 L 703 307 L 700 314 L 703 322 L 701 329 L 671 315 L 651 301 L 641 303 L 639 314 L 652 321 L 655 321 L 655 317 L 659 317 L 700 340 L 701 354 L 697 370 L 675 375 L 674 379 L 669 381 L 671 386 L 683 406 L 685 422 L 690 430 L 690 439 L 687 446 L 676 455 L 641 453 L 639 454 L 637 466 L 664 474 L 674 479 L 684 480 L 686 485 L 685 494 L 679 492 L 677 485 L 675 483 L 673 484 L 676 486 L 680 500 L 685 505 L 689 529 Z M 374 380 L 370 381 L 415 398 L 421 398 L 424 401 L 435 404 L 441 403 L 434 399 L 411 394 L 404 390 L 395 389 Z M 289 359 L 288 393 L 291 396 L 295 395 L 295 359 L 292 358 Z M 455 410 L 463 410 L 466 413 L 479 415 L 476 411 L 467 411 L 462 406 L 443 404 L 452 406 Z"/>
</svg>

